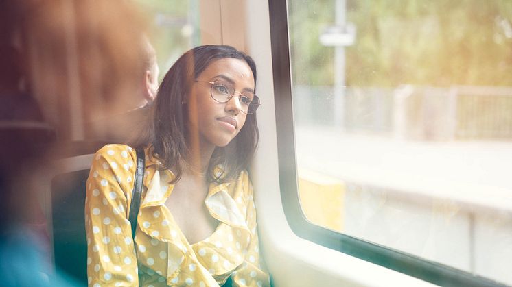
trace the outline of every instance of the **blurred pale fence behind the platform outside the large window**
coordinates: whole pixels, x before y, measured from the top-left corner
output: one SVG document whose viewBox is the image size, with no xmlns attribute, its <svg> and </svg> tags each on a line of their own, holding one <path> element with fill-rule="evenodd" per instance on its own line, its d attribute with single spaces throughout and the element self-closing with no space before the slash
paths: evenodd
<svg viewBox="0 0 512 287">
<path fill-rule="evenodd" d="M 296 125 L 412 140 L 512 140 L 512 87 L 294 86 Z"/>
</svg>

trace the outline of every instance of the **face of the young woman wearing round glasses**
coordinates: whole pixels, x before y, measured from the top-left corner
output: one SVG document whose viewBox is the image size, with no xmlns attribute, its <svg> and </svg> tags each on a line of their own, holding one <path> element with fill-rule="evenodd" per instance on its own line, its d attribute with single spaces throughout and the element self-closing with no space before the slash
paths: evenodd
<svg viewBox="0 0 512 287">
<path fill-rule="evenodd" d="M 197 131 L 200 145 L 224 147 L 235 138 L 244 126 L 246 114 L 242 112 L 239 92 L 254 91 L 253 72 L 244 60 L 222 58 L 211 62 L 202 71 L 188 98 L 189 127 Z M 235 88 L 235 96 L 226 103 L 212 99 L 210 90 L 213 82 L 222 80 Z"/>
</svg>

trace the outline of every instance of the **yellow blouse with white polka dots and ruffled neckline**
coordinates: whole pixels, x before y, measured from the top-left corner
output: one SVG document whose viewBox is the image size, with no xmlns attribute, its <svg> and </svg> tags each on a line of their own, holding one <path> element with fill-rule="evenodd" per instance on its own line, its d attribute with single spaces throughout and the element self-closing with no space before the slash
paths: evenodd
<svg viewBox="0 0 512 287">
<path fill-rule="evenodd" d="M 219 286 L 230 275 L 233 286 L 270 286 L 246 171 L 231 182 L 210 184 L 205 205 L 220 223 L 191 245 L 164 204 L 174 175 L 159 169 L 148 149 L 132 239 L 127 214 L 136 162 L 135 150 L 126 145 L 106 145 L 93 158 L 85 201 L 89 286 Z"/>
</svg>

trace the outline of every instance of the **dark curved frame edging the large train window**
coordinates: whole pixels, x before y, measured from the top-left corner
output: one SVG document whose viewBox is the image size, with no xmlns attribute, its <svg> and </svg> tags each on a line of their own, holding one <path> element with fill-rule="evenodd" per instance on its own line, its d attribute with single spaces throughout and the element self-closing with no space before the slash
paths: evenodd
<svg viewBox="0 0 512 287">
<path fill-rule="evenodd" d="M 329 249 L 441 286 L 505 286 L 492 279 L 340 234 L 308 221 L 299 199 L 292 108 L 288 1 L 268 0 L 277 155 L 283 211 L 292 232 Z M 340 266 L 342 268 L 342 266 Z"/>
</svg>

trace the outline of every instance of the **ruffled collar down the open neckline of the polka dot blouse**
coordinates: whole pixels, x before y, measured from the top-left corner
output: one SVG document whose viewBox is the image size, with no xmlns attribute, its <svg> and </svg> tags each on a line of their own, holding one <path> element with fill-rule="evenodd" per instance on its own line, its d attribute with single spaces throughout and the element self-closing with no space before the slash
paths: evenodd
<svg viewBox="0 0 512 287">
<path fill-rule="evenodd" d="M 231 236 L 239 238 L 248 238 L 251 232 L 246 225 L 245 216 L 238 208 L 237 203 L 229 194 L 230 182 L 221 184 L 211 183 L 205 199 L 205 205 L 211 216 L 220 221 L 216 231 L 205 240 L 189 245 L 185 236 L 181 233 L 178 225 L 174 221 L 170 210 L 165 206 L 165 201 L 171 195 L 174 184 L 169 184 L 174 179 L 174 174 L 168 169 L 161 169 L 161 162 L 154 156 L 150 156 L 149 148 L 146 149 L 146 173 L 144 176 L 144 186 L 147 186 L 146 195 L 141 203 L 137 223 L 144 234 L 161 242 L 168 243 L 168 262 L 167 262 L 167 284 L 172 284 L 172 279 L 178 276 L 180 269 L 185 268 L 187 260 L 193 258 L 201 261 L 196 252 L 205 248 L 208 253 L 214 253 L 219 258 L 224 258 L 229 262 L 229 266 L 220 266 L 216 268 L 215 274 L 221 275 L 233 270 L 243 262 L 240 255 L 231 255 L 232 251 L 226 247 L 218 247 L 211 240 L 216 236 L 222 223 L 231 228 L 222 227 L 222 232 L 229 232 Z M 245 243 L 245 240 L 242 240 Z M 244 244 L 244 247 L 246 244 Z M 200 262 L 205 264 L 205 262 Z"/>
</svg>

